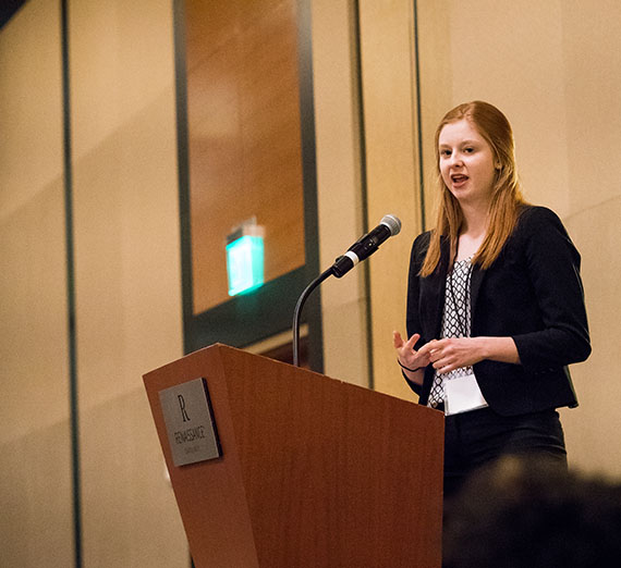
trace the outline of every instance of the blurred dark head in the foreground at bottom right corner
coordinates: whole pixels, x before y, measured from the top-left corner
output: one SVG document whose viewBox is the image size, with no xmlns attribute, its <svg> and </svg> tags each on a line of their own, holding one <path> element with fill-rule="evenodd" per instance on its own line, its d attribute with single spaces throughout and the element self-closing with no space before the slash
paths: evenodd
<svg viewBox="0 0 621 568">
<path fill-rule="evenodd" d="M 621 485 L 502 458 L 474 474 L 453 502 L 443 566 L 621 566 Z"/>
</svg>

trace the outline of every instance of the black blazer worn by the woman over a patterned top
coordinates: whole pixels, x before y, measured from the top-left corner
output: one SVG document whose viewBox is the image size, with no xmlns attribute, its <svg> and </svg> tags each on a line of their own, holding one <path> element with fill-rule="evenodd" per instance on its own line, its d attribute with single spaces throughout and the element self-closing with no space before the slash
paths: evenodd
<svg viewBox="0 0 621 568">
<path fill-rule="evenodd" d="M 442 242 L 435 272 L 418 276 L 430 233 L 412 246 L 407 287 L 407 336 L 415 346 L 440 337 L 449 243 Z M 474 267 L 471 280 L 471 335 L 513 337 L 521 365 L 484 360 L 474 366 L 489 406 L 503 416 L 577 406 L 568 365 L 590 354 L 580 254 L 560 219 L 544 207 L 524 206 L 499 257 L 487 269 Z M 427 404 L 434 369 L 423 386 L 409 381 Z"/>
</svg>

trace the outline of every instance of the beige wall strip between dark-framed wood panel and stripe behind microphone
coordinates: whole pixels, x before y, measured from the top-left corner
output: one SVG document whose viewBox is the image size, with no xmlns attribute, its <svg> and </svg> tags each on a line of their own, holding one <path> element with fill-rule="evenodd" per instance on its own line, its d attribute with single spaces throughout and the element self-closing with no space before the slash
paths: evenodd
<svg viewBox="0 0 621 568">
<path fill-rule="evenodd" d="M 313 2 L 319 266 L 364 232 L 355 13 L 346 0 Z M 379 220 L 378 220 L 379 221 Z M 324 372 L 368 385 L 367 266 L 321 285 Z"/>
</svg>

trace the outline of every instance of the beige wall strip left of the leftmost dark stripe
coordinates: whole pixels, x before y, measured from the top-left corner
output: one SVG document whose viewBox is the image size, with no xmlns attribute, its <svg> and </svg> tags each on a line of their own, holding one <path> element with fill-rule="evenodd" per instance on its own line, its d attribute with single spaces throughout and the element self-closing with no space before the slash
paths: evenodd
<svg viewBox="0 0 621 568">
<path fill-rule="evenodd" d="M 60 73 L 33 0 L 0 34 L 2 566 L 73 561 Z"/>
</svg>

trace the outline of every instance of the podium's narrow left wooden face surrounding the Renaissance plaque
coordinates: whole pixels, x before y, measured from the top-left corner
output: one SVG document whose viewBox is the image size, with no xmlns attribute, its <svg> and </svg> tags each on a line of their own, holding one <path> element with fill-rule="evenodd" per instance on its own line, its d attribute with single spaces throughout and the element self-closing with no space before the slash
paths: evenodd
<svg viewBox="0 0 621 568">
<path fill-rule="evenodd" d="M 197 353 L 144 378 L 174 495 L 197 568 L 258 568 L 224 369 L 217 350 Z M 223 455 L 174 467 L 158 393 L 199 376 L 207 380 Z"/>
</svg>

